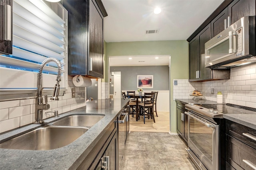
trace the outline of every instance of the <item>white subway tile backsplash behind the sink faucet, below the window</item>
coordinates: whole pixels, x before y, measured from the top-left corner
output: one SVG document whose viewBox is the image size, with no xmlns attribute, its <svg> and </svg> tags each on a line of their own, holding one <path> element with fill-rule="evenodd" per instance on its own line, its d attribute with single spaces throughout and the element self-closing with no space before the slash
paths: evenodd
<svg viewBox="0 0 256 170">
<path fill-rule="evenodd" d="M 76 88 L 76 98 L 71 98 L 71 88 Z M 77 94 L 84 96 L 77 97 Z M 58 110 L 58 113 L 64 113 L 79 107 L 86 106 L 86 88 L 75 87 L 72 82 L 72 76 L 68 76 L 68 89 L 64 96 L 59 96 L 58 101 L 50 100 L 48 97 L 48 104 L 50 109 L 43 111 L 43 119 L 51 117 L 54 113 L 47 113 L 47 111 Z M 44 97 L 43 97 L 44 98 Z M 44 100 L 44 99 L 43 99 Z M 45 100 L 44 100 L 45 101 Z M 0 133 L 15 129 L 20 126 L 28 125 L 35 121 L 35 103 L 33 99 L 10 100 L 0 102 Z"/>
</svg>

